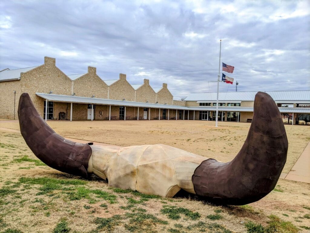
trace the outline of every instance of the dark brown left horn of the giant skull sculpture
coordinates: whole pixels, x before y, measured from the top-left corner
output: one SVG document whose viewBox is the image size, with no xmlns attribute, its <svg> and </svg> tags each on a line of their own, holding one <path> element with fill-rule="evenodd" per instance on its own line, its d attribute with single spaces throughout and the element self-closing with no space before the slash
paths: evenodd
<svg viewBox="0 0 310 233">
<path fill-rule="evenodd" d="M 87 177 L 91 147 L 56 134 L 40 117 L 27 93 L 20 96 L 18 118 L 21 135 L 42 162 L 56 170 Z"/>
</svg>

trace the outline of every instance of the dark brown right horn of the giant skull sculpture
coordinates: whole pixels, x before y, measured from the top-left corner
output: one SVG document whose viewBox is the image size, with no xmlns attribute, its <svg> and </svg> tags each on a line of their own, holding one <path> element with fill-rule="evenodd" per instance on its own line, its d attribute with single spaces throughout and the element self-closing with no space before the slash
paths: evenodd
<svg viewBox="0 0 310 233">
<path fill-rule="evenodd" d="M 192 176 L 197 195 L 221 204 L 244 205 L 266 196 L 286 162 L 288 142 L 282 117 L 266 93 L 255 95 L 253 121 L 231 162 L 203 161 Z"/>
</svg>

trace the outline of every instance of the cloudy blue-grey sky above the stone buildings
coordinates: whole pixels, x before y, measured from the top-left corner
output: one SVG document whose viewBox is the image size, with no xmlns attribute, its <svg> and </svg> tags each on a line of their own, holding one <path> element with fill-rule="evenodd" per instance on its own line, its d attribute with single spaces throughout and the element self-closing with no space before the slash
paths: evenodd
<svg viewBox="0 0 310 233">
<path fill-rule="evenodd" d="M 216 92 L 221 62 L 238 91 L 310 90 L 310 1 L 0 2 L 0 70 L 55 57 L 65 74 L 168 84 L 175 99 Z M 221 71 L 222 74 L 222 71 Z M 235 91 L 220 83 L 220 91 Z"/>
</svg>

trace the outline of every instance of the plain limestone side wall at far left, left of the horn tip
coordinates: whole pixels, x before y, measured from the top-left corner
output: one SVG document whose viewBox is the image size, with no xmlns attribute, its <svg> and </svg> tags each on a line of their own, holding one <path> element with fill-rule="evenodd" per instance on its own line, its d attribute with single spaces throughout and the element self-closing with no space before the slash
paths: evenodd
<svg viewBox="0 0 310 233">
<path fill-rule="evenodd" d="M 14 94 L 14 91 L 16 93 Z M 18 119 L 17 109 L 21 94 L 20 80 L 0 82 L 0 118 L 14 119 L 14 104 L 15 104 L 15 119 Z M 15 96 L 15 102 L 14 102 Z"/>
</svg>

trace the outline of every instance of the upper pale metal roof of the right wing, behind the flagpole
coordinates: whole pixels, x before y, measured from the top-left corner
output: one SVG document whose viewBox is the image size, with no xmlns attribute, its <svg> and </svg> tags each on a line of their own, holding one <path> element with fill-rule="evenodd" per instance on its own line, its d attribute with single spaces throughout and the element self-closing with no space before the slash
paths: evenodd
<svg viewBox="0 0 310 233">
<path fill-rule="evenodd" d="M 263 91 L 275 101 L 309 101 L 310 91 Z M 254 101 L 257 91 L 219 92 L 219 101 Z M 216 92 L 191 93 L 185 101 L 215 101 Z"/>
</svg>

